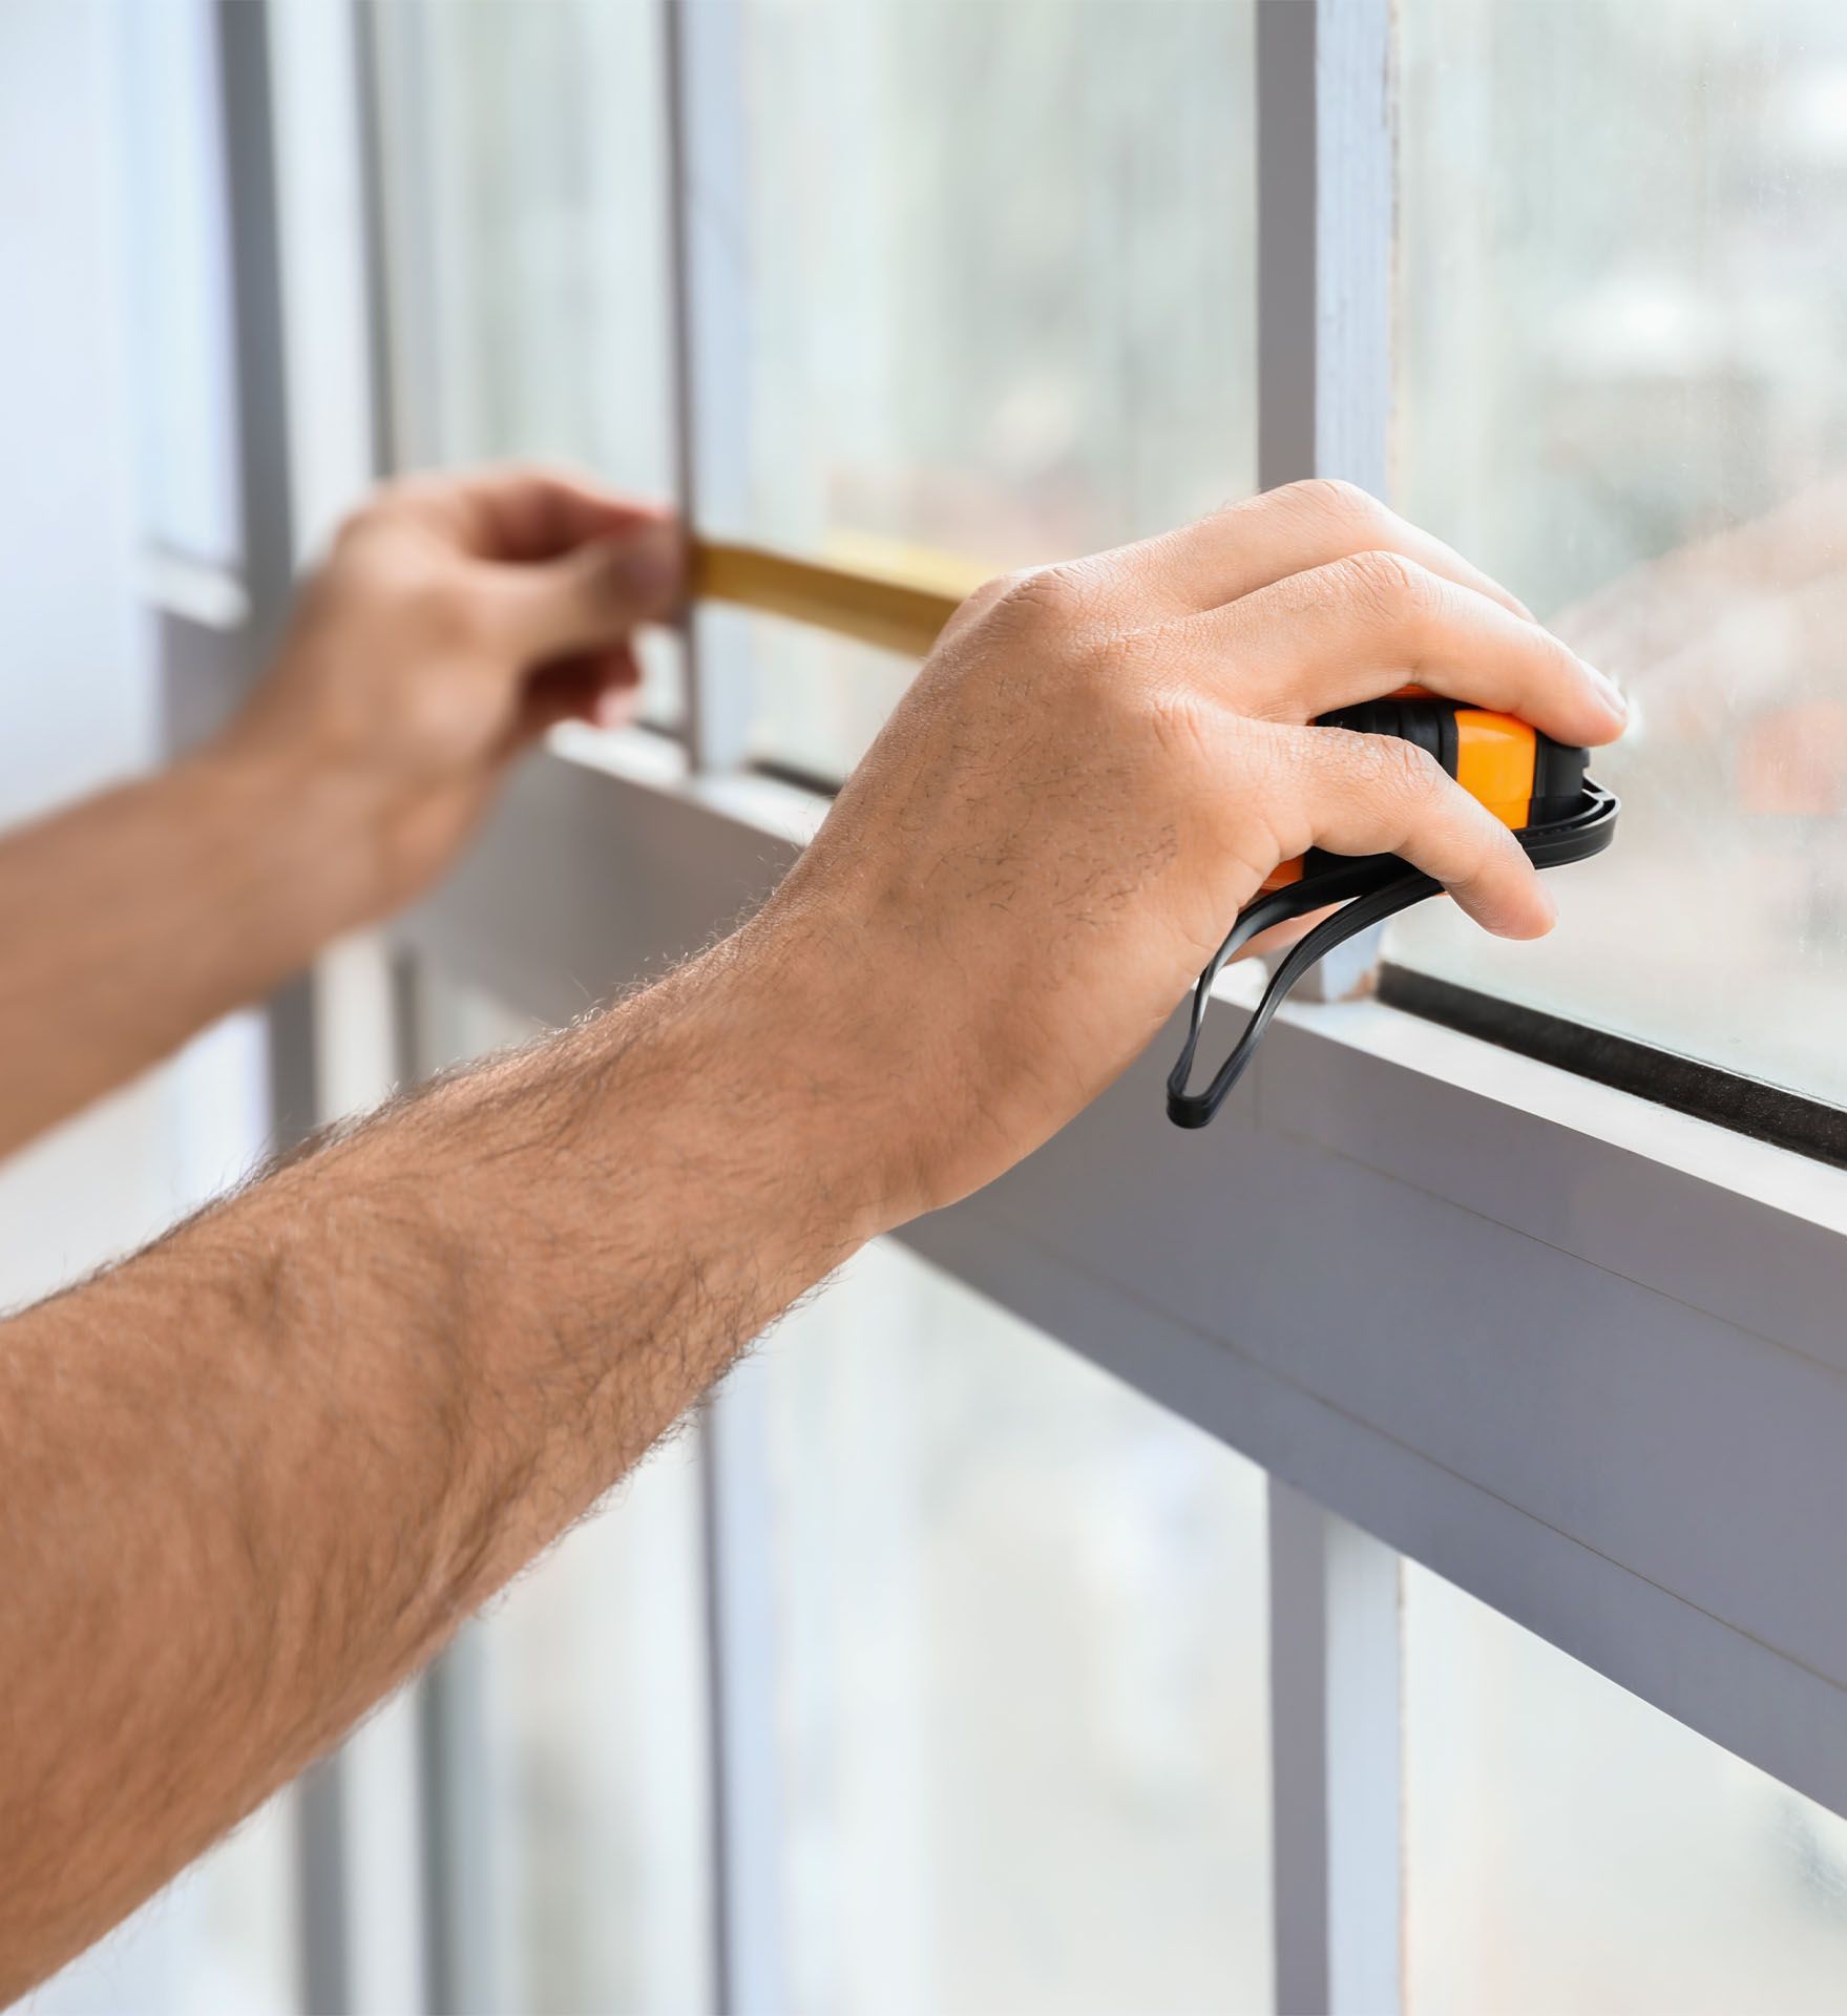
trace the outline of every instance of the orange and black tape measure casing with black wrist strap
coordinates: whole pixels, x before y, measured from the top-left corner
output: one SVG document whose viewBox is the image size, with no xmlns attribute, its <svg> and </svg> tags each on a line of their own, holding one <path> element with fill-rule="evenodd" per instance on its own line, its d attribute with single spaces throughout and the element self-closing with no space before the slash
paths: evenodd
<svg viewBox="0 0 1847 2016">
<path fill-rule="evenodd" d="M 1534 867 L 1555 869 L 1567 861 L 1589 861 L 1615 837 L 1621 802 L 1587 776 L 1591 752 L 1553 742 L 1510 714 L 1472 708 L 1460 700 L 1438 700 L 1422 687 L 1407 685 L 1385 700 L 1367 700 L 1357 708 L 1323 714 L 1317 726 L 1397 736 L 1428 750 L 1448 776 L 1512 829 Z M 1442 887 L 1397 855 L 1331 855 L 1317 849 L 1299 861 L 1284 861 L 1264 881 L 1256 899 L 1238 911 L 1226 941 L 1200 974 L 1188 1038 L 1174 1070 L 1167 1073 L 1167 1119 L 1176 1127 L 1204 1127 L 1244 1075 L 1270 1016 L 1303 974 L 1357 931 L 1371 929 L 1430 895 L 1440 895 Z M 1311 909 L 1327 909 L 1331 903 L 1343 907 L 1290 946 L 1270 974 L 1262 1000 L 1230 1056 L 1204 1091 L 1190 1093 L 1186 1087 L 1200 1048 L 1206 1004 L 1226 960 L 1258 933 L 1288 923 L 1290 917 L 1303 917 Z"/>
</svg>

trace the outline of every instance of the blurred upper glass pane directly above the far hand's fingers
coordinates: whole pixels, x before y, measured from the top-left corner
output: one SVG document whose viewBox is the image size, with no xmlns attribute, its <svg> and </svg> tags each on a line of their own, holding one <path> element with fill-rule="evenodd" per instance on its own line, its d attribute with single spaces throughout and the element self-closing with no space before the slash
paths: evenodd
<svg viewBox="0 0 1847 2016">
<path fill-rule="evenodd" d="M 407 468 L 540 458 L 673 490 L 661 8 L 371 10 L 391 397 Z M 678 716 L 645 647 L 643 712 Z"/>
</svg>

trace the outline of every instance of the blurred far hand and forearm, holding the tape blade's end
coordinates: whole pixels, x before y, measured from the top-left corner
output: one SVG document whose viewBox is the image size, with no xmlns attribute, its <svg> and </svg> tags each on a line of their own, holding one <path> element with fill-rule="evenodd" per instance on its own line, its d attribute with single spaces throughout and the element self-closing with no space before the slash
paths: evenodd
<svg viewBox="0 0 1847 2016">
<path fill-rule="evenodd" d="M 0 843 L 0 1153 L 423 889 L 534 736 L 623 716 L 680 575 L 565 476 L 379 492 L 216 742 Z"/>
</svg>

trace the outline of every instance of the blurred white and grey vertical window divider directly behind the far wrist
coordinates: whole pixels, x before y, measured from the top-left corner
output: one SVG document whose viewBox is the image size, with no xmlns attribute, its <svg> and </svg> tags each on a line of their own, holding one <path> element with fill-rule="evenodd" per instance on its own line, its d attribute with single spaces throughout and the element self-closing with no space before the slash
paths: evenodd
<svg viewBox="0 0 1847 2016">
<path fill-rule="evenodd" d="M 242 675 L 254 679 L 288 609 L 302 532 L 319 532 L 381 468 L 387 385 L 369 204 L 377 163 L 363 0 L 341 10 L 214 0 L 214 16 L 246 603 L 238 643 Z M 339 185 L 323 183 L 302 153 L 329 135 L 335 145 L 345 135 L 359 151 L 351 196 L 361 214 L 353 218 L 329 216 L 343 200 Z M 355 355 L 343 361 L 349 341 Z M 298 454 L 304 425 L 317 433 L 311 456 Z M 272 1133 L 286 1147 L 369 1103 L 397 1075 L 401 1028 L 383 939 L 329 948 L 272 1000 L 266 1020 Z M 427 1883 L 419 1867 L 397 1867 L 405 1855 L 421 1861 L 427 1853 L 415 1790 L 379 1780 L 415 1764 L 411 1752 L 389 1754 L 387 1722 L 389 1712 L 367 1726 L 363 1756 L 325 1758 L 294 1794 L 298 1996 L 315 2016 L 429 2006 L 438 1990 L 421 1929 Z M 399 1839 L 381 1843 L 385 1835 Z M 381 1875 L 389 1907 L 369 1895 Z"/>
</svg>

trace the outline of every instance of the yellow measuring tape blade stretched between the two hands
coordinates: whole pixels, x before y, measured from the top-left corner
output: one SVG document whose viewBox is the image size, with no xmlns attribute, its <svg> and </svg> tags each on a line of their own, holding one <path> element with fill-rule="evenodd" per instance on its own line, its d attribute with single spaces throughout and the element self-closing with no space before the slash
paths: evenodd
<svg viewBox="0 0 1847 2016">
<path fill-rule="evenodd" d="M 972 562 L 942 554 L 905 556 L 905 564 L 885 571 L 722 540 L 694 540 L 692 548 L 694 599 L 736 603 L 905 657 L 928 657 L 938 631 L 986 579 Z"/>
</svg>

